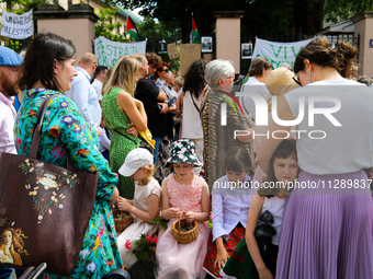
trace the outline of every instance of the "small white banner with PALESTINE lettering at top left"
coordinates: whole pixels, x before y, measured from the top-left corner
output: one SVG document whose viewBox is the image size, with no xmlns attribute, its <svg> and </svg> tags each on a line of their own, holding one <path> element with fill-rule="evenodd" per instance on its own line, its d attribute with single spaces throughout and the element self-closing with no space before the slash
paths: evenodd
<svg viewBox="0 0 373 279">
<path fill-rule="evenodd" d="M 33 9 L 23 14 L 2 11 L 1 36 L 24 39 L 34 35 Z"/>
</svg>

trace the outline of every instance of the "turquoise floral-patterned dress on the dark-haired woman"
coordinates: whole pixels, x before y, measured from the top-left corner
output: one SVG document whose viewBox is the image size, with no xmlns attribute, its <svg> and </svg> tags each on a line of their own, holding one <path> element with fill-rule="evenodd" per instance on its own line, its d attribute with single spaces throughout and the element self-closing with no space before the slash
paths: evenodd
<svg viewBox="0 0 373 279">
<path fill-rule="evenodd" d="M 77 168 L 100 175 L 92 216 L 70 278 L 102 278 L 110 270 L 121 268 L 122 260 L 109 202 L 117 176 L 99 152 L 95 131 L 90 130 L 76 104 L 64 94 L 52 90 L 26 90 L 22 92 L 23 102 L 14 126 L 16 151 L 29 155 L 37 113 L 44 98 L 50 94 L 58 96 L 49 102 L 45 112 L 37 158 L 66 166 L 66 152 L 69 152 Z M 44 278 L 60 277 L 45 275 Z"/>
</svg>

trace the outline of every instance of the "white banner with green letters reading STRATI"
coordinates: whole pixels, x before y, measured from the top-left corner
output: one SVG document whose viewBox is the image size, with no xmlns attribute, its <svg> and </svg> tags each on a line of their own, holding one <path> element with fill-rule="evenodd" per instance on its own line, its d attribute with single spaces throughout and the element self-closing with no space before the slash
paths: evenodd
<svg viewBox="0 0 373 279">
<path fill-rule="evenodd" d="M 117 43 L 100 36 L 93 42 L 98 65 L 106 66 L 108 68 L 113 68 L 117 59 L 123 55 L 145 55 L 146 53 L 146 40 L 137 43 Z"/>
</svg>

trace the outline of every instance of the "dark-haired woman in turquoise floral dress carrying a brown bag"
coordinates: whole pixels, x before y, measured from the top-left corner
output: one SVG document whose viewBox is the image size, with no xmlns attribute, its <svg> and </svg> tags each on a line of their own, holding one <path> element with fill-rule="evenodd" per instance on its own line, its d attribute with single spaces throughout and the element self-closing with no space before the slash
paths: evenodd
<svg viewBox="0 0 373 279">
<path fill-rule="evenodd" d="M 69 278 L 102 278 L 110 270 L 122 267 L 110 207 L 118 196 L 117 177 L 99 152 L 98 135 L 89 128 L 76 104 L 63 94 L 71 88 L 72 78 L 77 75 L 75 54 L 71 40 L 52 33 L 35 36 L 27 48 L 19 80 L 23 90 L 22 107 L 15 120 L 14 138 L 18 153 L 29 155 L 39 107 L 45 97 L 56 94 L 45 112 L 37 159 L 66 165 L 69 154 L 77 168 L 99 174 L 92 216 Z"/>
</svg>

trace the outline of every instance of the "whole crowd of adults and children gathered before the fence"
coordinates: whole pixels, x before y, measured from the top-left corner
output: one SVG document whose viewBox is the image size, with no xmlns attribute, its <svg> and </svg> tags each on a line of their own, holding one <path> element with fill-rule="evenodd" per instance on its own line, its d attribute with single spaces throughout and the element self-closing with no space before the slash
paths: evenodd
<svg viewBox="0 0 373 279">
<path fill-rule="evenodd" d="M 364 171 L 373 166 L 373 94 L 352 80 L 355 56 L 349 43 L 315 38 L 294 69 L 256 58 L 247 77 L 235 77 L 230 61 L 200 59 L 174 77 L 154 53 L 122 56 L 112 69 L 84 54 L 75 67 L 72 42 L 41 33 L 24 58 L 0 47 L 0 152 L 29 154 L 41 104 L 55 95 L 38 159 L 66 165 L 69 155 L 99 174 L 69 278 L 131 271 L 143 234 L 158 240 L 160 279 L 373 278 Z M 252 91 L 267 101 L 267 126 Z M 299 137 L 309 129 L 326 137 Z M 293 187 L 314 184 L 323 187 Z M 114 207 L 134 218 L 122 233 Z M 174 236 L 180 219 L 199 231 L 188 244 Z M 22 265 L 13 231 L 1 228 L 0 263 Z M 0 268 L 9 278 L 12 269 Z"/>
</svg>

